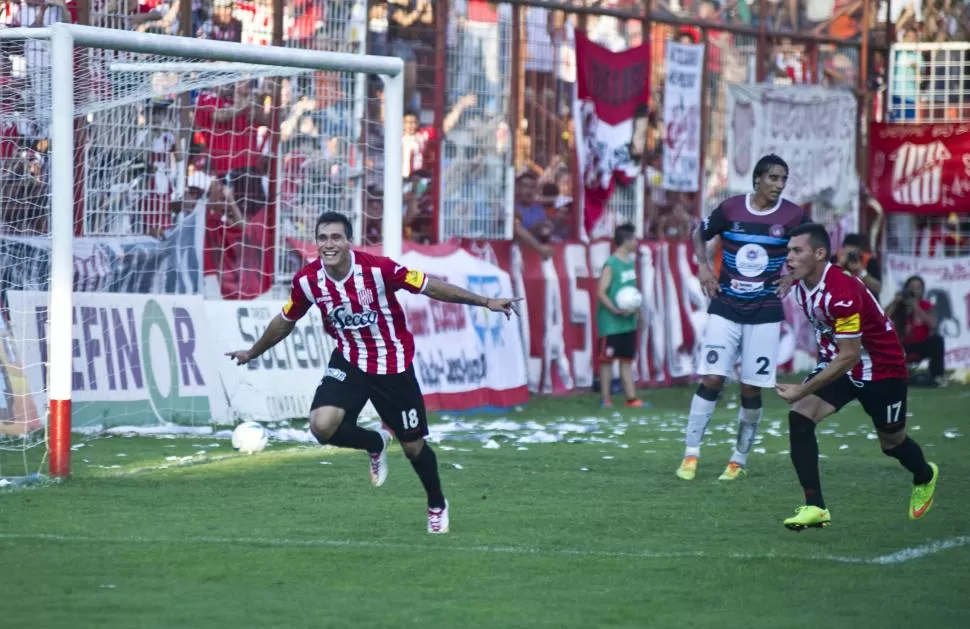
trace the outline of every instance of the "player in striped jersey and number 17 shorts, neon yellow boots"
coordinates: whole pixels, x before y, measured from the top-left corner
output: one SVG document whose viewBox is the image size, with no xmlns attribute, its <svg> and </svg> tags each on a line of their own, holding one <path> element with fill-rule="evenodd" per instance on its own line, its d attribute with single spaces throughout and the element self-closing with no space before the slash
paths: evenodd
<svg viewBox="0 0 970 629">
<path fill-rule="evenodd" d="M 815 325 L 818 367 L 802 384 L 779 384 L 792 405 L 788 414 L 791 460 L 805 490 L 805 505 L 785 520 L 792 530 L 828 526 L 818 473 L 815 426 L 852 400 L 872 418 L 883 453 L 913 474 L 909 517 L 926 515 L 933 504 L 939 469 L 906 435 L 906 354 L 892 322 L 858 277 L 829 260 L 831 243 L 821 225 L 792 231 L 787 266 L 795 302 Z"/>
</svg>

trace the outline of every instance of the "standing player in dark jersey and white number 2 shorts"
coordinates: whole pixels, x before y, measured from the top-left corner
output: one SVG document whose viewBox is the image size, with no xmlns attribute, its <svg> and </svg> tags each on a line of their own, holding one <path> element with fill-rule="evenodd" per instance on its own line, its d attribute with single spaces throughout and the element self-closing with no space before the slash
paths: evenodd
<svg viewBox="0 0 970 629">
<path fill-rule="evenodd" d="M 702 377 L 691 399 L 684 459 L 677 476 L 692 480 L 697 473 L 704 431 L 711 421 L 725 378 L 741 360 L 741 408 L 734 452 L 720 480 L 745 475 L 748 452 L 761 421 L 761 389 L 775 386 L 775 366 L 785 311 L 781 304 L 789 286 L 782 279 L 788 235 L 807 222 L 805 211 L 782 199 L 788 165 L 766 155 L 754 167 L 754 193 L 731 197 L 711 212 L 694 234 L 698 277 L 711 298 L 698 374 Z M 720 236 L 717 277 L 707 263 L 707 241 Z"/>
</svg>

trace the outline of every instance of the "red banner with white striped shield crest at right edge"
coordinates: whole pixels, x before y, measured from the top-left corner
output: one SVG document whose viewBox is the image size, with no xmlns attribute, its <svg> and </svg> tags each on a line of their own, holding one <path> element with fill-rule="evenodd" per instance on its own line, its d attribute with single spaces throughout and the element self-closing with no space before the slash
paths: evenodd
<svg viewBox="0 0 970 629">
<path fill-rule="evenodd" d="M 869 164 L 886 212 L 970 212 L 970 123 L 873 123 Z"/>
</svg>

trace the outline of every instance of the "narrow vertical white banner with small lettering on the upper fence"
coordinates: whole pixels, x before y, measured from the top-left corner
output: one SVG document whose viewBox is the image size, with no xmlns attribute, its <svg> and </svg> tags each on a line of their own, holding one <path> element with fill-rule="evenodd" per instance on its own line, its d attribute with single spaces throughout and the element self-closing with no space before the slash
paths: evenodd
<svg viewBox="0 0 970 629">
<path fill-rule="evenodd" d="M 701 170 L 701 78 L 704 44 L 667 42 L 664 81 L 663 187 L 697 192 Z"/>
</svg>

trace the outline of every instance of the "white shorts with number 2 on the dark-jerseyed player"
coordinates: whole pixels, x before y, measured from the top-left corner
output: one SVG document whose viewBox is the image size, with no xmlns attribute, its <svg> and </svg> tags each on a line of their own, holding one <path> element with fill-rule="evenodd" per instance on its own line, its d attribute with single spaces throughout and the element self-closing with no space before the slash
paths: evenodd
<svg viewBox="0 0 970 629">
<path fill-rule="evenodd" d="M 701 376 L 730 376 L 741 360 L 741 382 L 770 389 L 775 386 L 781 322 L 738 323 L 718 315 L 707 319 L 701 344 Z"/>
</svg>

